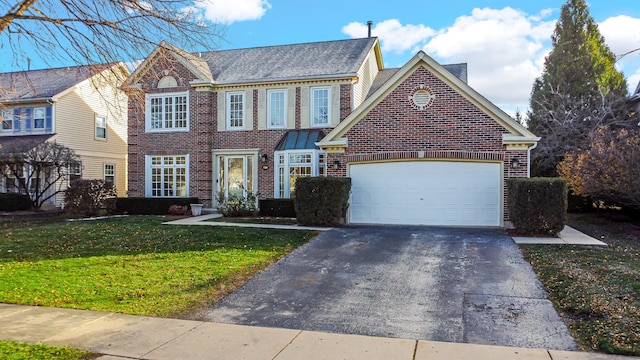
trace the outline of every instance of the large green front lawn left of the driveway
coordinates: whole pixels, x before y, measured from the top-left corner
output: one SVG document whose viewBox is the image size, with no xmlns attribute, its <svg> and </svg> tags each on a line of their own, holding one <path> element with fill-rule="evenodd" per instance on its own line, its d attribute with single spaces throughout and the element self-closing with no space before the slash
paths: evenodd
<svg viewBox="0 0 640 360">
<path fill-rule="evenodd" d="M 179 316 L 218 301 L 316 235 L 164 221 L 2 221 L 0 302 Z"/>
</svg>

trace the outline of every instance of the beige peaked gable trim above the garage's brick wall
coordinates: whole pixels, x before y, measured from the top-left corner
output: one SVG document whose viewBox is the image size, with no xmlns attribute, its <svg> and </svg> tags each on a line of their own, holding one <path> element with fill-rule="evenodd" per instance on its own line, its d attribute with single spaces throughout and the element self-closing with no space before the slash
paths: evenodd
<svg viewBox="0 0 640 360">
<path fill-rule="evenodd" d="M 351 129 L 358 121 L 380 103 L 389 93 L 398 87 L 408 76 L 410 76 L 418 67 L 425 67 L 434 76 L 452 87 L 456 92 L 469 100 L 476 107 L 490 116 L 497 123 L 502 125 L 509 135 L 503 136 L 505 144 L 518 143 L 520 145 L 527 144 L 534 146 L 540 139 L 527 130 L 520 123 L 511 118 L 507 113 L 502 111 L 496 105 L 480 95 L 471 88 L 460 77 L 453 74 L 444 66 L 433 60 L 423 51 L 419 51 L 409 62 L 393 74 L 387 74 L 388 79 L 375 92 L 365 100 L 365 102 L 355 109 L 344 121 L 335 127 L 322 141 L 318 143 L 321 148 L 344 147 L 347 145 L 346 139 L 342 137 Z M 390 76 L 389 76 L 390 75 Z"/>
</svg>

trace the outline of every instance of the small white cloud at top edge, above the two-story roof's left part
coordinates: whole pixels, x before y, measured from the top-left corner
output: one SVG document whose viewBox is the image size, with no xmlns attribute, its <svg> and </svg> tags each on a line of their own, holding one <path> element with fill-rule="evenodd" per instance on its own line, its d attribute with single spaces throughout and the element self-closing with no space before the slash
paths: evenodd
<svg viewBox="0 0 640 360">
<path fill-rule="evenodd" d="M 267 0 L 196 0 L 194 6 L 204 11 L 205 19 L 227 25 L 258 20 L 271 8 Z"/>
</svg>

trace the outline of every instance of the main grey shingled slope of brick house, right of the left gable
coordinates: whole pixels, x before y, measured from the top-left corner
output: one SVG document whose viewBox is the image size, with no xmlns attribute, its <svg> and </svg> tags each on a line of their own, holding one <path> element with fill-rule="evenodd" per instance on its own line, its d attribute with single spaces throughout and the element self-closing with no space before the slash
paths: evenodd
<svg viewBox="0 0 640 360">
<path fill-rule="evenodd" d="M 197 53 L 216 84 L 355 76 L 376 38 Z"/>
</svg>

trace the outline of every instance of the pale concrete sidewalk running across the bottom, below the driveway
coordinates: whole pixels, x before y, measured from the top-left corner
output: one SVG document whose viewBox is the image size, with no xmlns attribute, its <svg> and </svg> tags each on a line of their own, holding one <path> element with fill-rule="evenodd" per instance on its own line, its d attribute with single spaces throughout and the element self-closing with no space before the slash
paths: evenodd
<svg viewBox="0 0 640 360">
<path fill-rule="evenodd" d="M 0 304 L 0 340 L 66 345 L 116 359 L 638 359 L 584 352 L 456 344 L 249 327 Z"/>
</svg>

